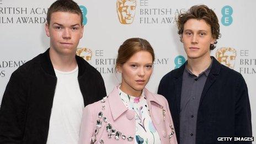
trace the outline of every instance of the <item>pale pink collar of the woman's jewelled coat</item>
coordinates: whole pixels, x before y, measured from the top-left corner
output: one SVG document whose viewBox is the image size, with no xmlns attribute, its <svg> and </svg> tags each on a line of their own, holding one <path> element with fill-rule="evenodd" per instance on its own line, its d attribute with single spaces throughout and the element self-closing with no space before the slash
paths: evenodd
<svg viewBox="0 0 256 144">
<path fill-rule="evenodd" d="M 126 106 L 122 102 L 121 98 L 119 97 L 118 87 L 119 86 L 115 86 L 108 97 L 110 111 L 111 111 L 111 114 L 112 114 L 114 120 L 118 119 L 120 115 L 122 115 L 123 113 L 125 113 L 128 110 L 128 108 L 126 108 Z M 151 92 L 149 92 L 146 88 L 143 89 L 143 91 L 145 93 L 147 102 L 150 102 L 150 103 L 153 102 L 160 106 L 163 106 L 163 104 L 159 103 L 159 101 L 154 97 L 154 95 Z M 150 104 L 149 104 L 149 106 L 150 106 Z"/>
</svg>

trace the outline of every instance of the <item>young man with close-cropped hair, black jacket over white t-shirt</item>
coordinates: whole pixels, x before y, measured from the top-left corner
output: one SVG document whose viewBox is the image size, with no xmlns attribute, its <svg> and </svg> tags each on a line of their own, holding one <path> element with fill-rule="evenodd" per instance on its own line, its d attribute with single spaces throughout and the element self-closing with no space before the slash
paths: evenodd
<svg viewBox="0 0 256 144">
<path fill-rule="evenodd" d="M 100 73 L 76 56 L 83 36 L 77 3 L 47 12 L 50 49 L 14 71 L 0 109 L 0 143 L 77 143 L 84 106 L 106 95 Z"/>
</svg>

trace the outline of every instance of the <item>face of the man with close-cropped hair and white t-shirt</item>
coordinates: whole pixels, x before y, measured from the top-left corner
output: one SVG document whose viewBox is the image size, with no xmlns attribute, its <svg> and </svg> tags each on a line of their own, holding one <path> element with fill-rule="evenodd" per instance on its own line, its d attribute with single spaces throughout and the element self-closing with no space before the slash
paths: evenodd
<svg viewBox="0 0 256 144">
<path fill-rule="evenodd" d="M 78 14 L 54 12 L 50 24 L 45 25 L 46 35 L 50 37 L 50 47 L 60 55 L 75 55 L 79 40 L 83 36 L 83 25 Z"/>
</svg>

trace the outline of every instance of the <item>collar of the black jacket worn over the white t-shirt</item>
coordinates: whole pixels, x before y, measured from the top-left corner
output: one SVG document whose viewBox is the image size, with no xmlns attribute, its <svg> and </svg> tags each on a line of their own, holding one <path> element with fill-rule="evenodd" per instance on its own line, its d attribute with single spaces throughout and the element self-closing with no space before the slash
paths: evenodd
<svg viewBox="0 0 256 144">
<path fill-rule="evenodd" d="M 54 66 L 52 66 L 50 55 L 49 55 L 49 49 L 47 49 L 43 54 L 40 56 L 40 64 L 42 69 L 50 74 L 51 76 L 55 76 Z M 82 76 L 84 72 L 86 71 L 86 67 L 89 65 L 85 60 L 83 60 L 82 57 L 79 57 L 76 55 L 76 61 L 78 65 L 78 77 Z"/>
</svg>

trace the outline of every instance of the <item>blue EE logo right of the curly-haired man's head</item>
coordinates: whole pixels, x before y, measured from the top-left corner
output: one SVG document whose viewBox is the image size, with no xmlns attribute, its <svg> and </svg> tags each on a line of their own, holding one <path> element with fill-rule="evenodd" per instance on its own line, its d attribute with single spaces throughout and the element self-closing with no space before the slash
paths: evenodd
<svg viewBox="0 0 256 144">
<path fill-rule="evenodd" d="M 225 26 L 231 25 L 233 22 L 232 14 L 233 14 L 233 9 L 230 6 L 225 6 L 221 9 L 221 23 Z"/>
</svg>

